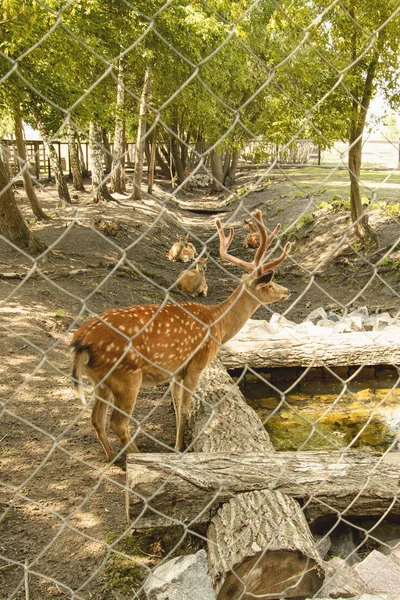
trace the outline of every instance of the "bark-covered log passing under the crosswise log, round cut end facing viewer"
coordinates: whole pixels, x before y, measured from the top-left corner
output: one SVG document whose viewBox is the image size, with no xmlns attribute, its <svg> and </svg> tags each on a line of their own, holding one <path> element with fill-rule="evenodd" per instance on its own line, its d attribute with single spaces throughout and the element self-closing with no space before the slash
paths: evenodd
<svg viewBox="0 0 400 600">
<path fill-rule="evenodd" d="M 254 449 L 274 454 L 260 419 L 219 361 L 208 367 L 197 388 L 188 428 L 195 453 Z M 207 540 L 218 600 L 256 594 L 309 597 L 324 580 L 304 513 L 280 491 L 232 497 L 212 518 Z"/>
</svg>

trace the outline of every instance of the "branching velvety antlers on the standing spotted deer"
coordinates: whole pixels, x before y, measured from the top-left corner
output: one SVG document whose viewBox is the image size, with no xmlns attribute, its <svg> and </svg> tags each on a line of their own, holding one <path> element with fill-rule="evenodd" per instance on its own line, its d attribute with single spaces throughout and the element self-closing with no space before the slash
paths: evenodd
<svg viewBox="0 0 400 600">
<path fill-rule="evenodd" d="M 261 215 L 260 210 L 256 210 L 253 213 L 253 218 L 256 222 L 257 228 L 258 228 L 258 230 L 260 232 L 260 236 L 261 236 L 260 246 L 257 248 L 257 252 L 254 257 L 254 260 L 252 262 L 247 262 L 245 260 L 242 260 L 241 258 L 238 258 L 237 256 L 232 256 L 232 254 L 228 254 L 228 248 L 231 245 L 231 242 L 233 240 L 234 230 L 233 230 L 233 227 L 231 227 L 230 231 L 229 231 L 229 236 L 227 237 L 224 234 L 224 230 L 223 230 L 221 221 L 219 219 L 217 219 L 216 225 L 218 228 L 218 234 L 219 234 L 219 240 L 220 240 L 219 252 L 220 252 L 221 258 L 224 258 L 225 260 L 227 260 L 228 262 L 231 262 L 234 265 L 238 265 L 239 267 L 242 267 L 248 273 L 253 273 L 254 271 L 256 271 L 257 275 L 262 275 L 266 271 L 269 271 L 270 269 L 277 267 L 278 265 L 281 264 L 281 262 L 283 262 L 285 260 L 286 256 L 289 253 L 290 242 L 287 242 L 285 244 L 283 252 L 279 256 L 279 258 L 276 258 L 275 260 L 270 261 L 269 263 L 266 263 L 264 265 L 261 264 L 261 262 L 265 256 L 265 253 L 267 252 L 269 246 L 271 245 L 272 240 L 274 239 L 274 237 L 277 235 L 278 231 L 280 230 L 281 225 L 280 225 L 280 223 L 278 223 L 278 225 L 275 227 L 273 232 L 268 235 L 267 229 L 262 222 L 262 215 Z"/>
</svg>

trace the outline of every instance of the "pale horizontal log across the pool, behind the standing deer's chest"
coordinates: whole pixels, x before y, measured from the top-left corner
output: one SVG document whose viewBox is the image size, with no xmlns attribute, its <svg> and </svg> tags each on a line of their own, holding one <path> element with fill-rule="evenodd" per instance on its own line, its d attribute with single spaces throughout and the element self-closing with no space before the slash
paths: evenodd
<svg viewBox="0 0 400 600">
<path fill-rule="evenodd" d="M 239 333 L 225 344 L 219 358 L 227 369 L 262 367 L 321 367 L 400 364 L 400 329 L 332 333 L 321 327 L 319 335 L 268 334 L 251 339 Z"/>
</svg>

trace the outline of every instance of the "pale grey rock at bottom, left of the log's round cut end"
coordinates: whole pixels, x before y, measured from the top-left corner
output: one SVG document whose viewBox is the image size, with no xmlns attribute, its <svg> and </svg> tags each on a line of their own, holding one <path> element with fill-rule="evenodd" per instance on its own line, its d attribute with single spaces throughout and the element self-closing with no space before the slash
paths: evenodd
<svg viewBox="0 0 400 600">
<path fill-rule="evenodd" d="M 143 586 L 147 600 L 215 600 L 207 553 L 178 556 L 154 569 Z"/>
</svg>

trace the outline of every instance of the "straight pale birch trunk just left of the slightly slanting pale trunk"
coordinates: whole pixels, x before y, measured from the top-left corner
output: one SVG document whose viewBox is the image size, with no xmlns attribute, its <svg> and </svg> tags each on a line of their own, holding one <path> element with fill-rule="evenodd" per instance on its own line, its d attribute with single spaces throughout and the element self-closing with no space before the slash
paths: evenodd
<svg viewBox="0 0 400 600">
<path fill-rule="evenodd" d="M 110 189 L 114 193 L 123 194 L 125 185 L 125 89 L 124 89 L 124 61 L 119 60 L 117 82 L 117 108 L 115 116 L 114 148 L 111 166 Z"/>
</svg>

